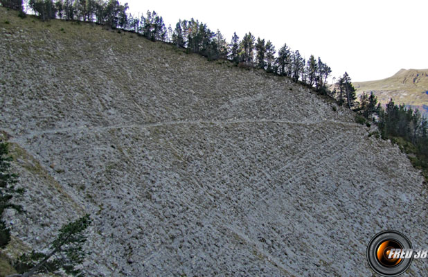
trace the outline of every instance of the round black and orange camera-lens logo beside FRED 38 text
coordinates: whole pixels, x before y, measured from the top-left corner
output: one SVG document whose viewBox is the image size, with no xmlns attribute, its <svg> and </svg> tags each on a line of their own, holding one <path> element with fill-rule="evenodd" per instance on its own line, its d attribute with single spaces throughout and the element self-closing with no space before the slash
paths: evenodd
<svg viewBox="0 0 428 277">
<path fill-rule="evenodd" d="M 381 276 L 398 276 L 406 271 L 413 261 L 410 240 L 398 231 L 377 233 L 368 243 L 368 265 Z"/>
</svg>

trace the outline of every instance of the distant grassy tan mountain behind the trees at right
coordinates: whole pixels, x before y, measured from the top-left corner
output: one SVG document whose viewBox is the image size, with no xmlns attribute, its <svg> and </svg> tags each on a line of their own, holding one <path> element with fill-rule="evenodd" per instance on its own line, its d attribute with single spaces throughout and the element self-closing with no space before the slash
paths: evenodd
<svg viewBox="0 0 428 277">
<path fill-rule="evenodd" d="M 382 104 L 395 103 L 417 107 L 428 114 L 428 69 L 400 69 L 393 76 L 376 81 L 353 82 L 357 95 L 373 91 Z"/>
</svg>

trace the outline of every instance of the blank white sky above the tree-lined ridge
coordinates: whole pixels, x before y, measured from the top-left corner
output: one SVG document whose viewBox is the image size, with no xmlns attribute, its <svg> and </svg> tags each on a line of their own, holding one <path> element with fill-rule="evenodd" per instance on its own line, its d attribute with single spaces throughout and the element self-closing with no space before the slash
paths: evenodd
<svg viewBox="0 0 428 277">
<path fill-rule="evenodd" d="M 230 42 L 251 32 L 276 51 L 287 43 L 308 58 L 321 57 L 337 77 L 387 78 L 400 69 L 428 69 L 428 0 L 141 1 L 130 12 L 155 10 L 168 27 L 198 19 Z"/>
</svg>

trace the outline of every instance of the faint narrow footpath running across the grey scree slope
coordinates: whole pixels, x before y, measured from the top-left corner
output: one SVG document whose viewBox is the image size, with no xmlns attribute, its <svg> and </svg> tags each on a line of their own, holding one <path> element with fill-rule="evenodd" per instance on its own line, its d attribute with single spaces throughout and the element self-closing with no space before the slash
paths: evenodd
<svg viewBox="0 0 428 277">
<path fill-rule="evenodd" d="M 349 127 L 361 127 L 362 125 L 357 123 L 349 123 L 338 120 L 312 120 L 312 121 L 290 121 L 290 120 L 280 120 L 280 119 L 259 119 L 259 120 L 172 120 L 159 123 L 145 123 L 145 124 L 118 124 L 110 126 L 79 126 L 79 127 L 65 127 L 65 128 L 54 128 L 46 129 L 42 131 L 31 131 L 28 134 L 22 134 L 15 137 L 15 139 L 30 139 L 34 136 L 40 136 L 42 134 L 57 134 L 57 133 L 92 133 L 92 132 L 101 132 L 108 131 L 110 129 L 127 129 L 134 127 L 141 128 L 150 128 L 150 127 L 163 127 L 170 125 L 198 125 L 198 124 L 213 124 L 213 125 L 229 125 L 229 124 L 246 124 L 246 123 L 279 123 L 279 124 L 290 124 L 290 125 L 317 125 L 321 123 L 332 123 L 342 126 Z"/>
</svg>

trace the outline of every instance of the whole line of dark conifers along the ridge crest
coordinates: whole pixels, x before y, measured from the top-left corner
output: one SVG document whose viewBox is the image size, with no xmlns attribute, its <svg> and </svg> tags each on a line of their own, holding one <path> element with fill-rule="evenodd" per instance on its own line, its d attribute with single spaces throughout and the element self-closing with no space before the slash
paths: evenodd
<svg viewBox="0 0 428 277">
<path fill-rule="evenodd" d="M 270 40 L 256 39 L 251 32 L 242 39 L 234 33 L 228 43 L 220 30 L 213 32 L 206 24 L 193 18 L 180 19 L 175 28 L 167 28 L 163 17 L 157 12 L 148 11 L 136 17 L 128 12 L 127 3 L 123 5 L 117 0 L 0 0 L 0 3 L 6 8 L 19 10 L 20 17 L 25 17 L 23 10 L 26 4 L 44 21 L 65 19 L 94 22 L 117 28 L 118 31 L 137 33 L 152 41 L 173 44 L 188 53 L 203 55 L 208 60 L 229 60 L 236 66 L 285 76 L 334 99 L 338 105 L 346 105 L 356 111 L 358 122 L 367 125 L 376 123 L 384 139 L 401 142 L 402 149 L 413 155 L 411 160 L 416 159 L 413 164 L 428 170 L 427 119 L 417 109 L 395 105 L 392 99 L 386 109 L 382 109 L 373 93 L 362 93 L 357 100 L 348 73 L 336 80 L 333 78 L 334 85 L 330 90 L 330 66 L 314 55 L 306 60 L 298 50 L 292 51 L 287 44 L 277 52 Z"/>
</svg>

